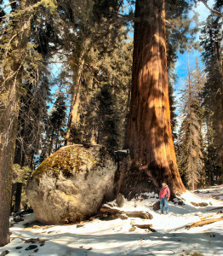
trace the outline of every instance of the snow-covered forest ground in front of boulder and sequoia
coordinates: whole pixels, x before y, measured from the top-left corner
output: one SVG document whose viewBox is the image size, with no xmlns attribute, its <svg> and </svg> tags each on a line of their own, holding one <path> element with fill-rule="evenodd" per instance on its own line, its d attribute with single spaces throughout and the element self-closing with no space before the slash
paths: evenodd
<svg viewBox="0 0 223 256">
<path fill-rule="evenodd" d="M 152 205 L 158 201 L 154 193 L 141 200 L 125 201 L 122 211 L 146 211 L 152 219 L 128 218 L 102 221 L 95 218 L 83 224 L 46 226 L 37 223 L 33 213 L 14 224 L 11 242 L 0 248 L 9 255 L 223 255 L 223 185 L 186 191 L 177 201 L 169 201 L 169 215 L 154 212 Z M 195 207 L 192 202 L 208 203 Z M 218 208 L 217 208 L 218 207 Z M 221 208 L 220 208 L 221 207 Z M 217 209 L 216 209 L 217 208 Z M 222 218 L 187 230 L 186 226 L 203 219 Z M 152 224 L 150 230 L 136 228 L 135 224 Z M 29 223 L 29 224 L 27 224 Z M 35 238 L 36 240 L 29 239 Z M 9 252 L 7 252 L 9 251 Z"/>
</svg>

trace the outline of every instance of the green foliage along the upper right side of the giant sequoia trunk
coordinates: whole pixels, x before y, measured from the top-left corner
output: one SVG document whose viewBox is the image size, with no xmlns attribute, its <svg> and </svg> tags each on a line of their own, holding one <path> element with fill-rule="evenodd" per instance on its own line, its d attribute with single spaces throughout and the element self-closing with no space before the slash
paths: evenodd
<svg viewBox="0 0 223 256">
<path fill-rule="evenodd" d="M 185 0 L 168 0 L 165 1 L 166 8 L 166 45 L 167 45 L 167 65 L 169 75 L 169 105 L 170 120 L 173 132 L 174 143 L 177 139 L 176 132 L 176 113 L 174 100 L 174 84 L 177 76 L 175 75 L 175 63 L 178 59 L 178 53 L 185 53 L 186 49 L 196 48 L 195 36 L 198 32 L 197 14 L 192 18 L 188 17 L 188 13 L 192 10 L 192 3 Z M 193 24 L 193 26 L 192 26 Z"/>
</svg>

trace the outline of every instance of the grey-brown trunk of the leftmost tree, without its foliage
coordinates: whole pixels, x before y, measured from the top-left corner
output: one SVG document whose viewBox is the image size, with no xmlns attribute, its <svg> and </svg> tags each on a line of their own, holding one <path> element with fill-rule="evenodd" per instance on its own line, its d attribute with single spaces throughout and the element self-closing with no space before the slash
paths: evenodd
<svg viewBox="0 0 223 256">
<path fill-rule="evenodd" d="M 30 3 L 29 3 L 30 4 Z M 20 10 L 26 7 L 26 0 L 20 1 Z M 12 27 L 11 42 L 13 49 L 17 52 L 26 49 L 27 38 L 30 32 L 31 15 L 26 15 L 22 21 L 14 22 Z M 20 89 L 23 75 L 24 55 L 18 58 L 7 59 L 3 61 L 10 62 L 3 72 L 0 97 L 0 247 L 10 241 L 9 237 L 9 213 L 11 203 L 12 188 L 12 165 L 14 160 L 14 148 L 17 135 L 17 123 L 20 103 Z"/>
</svg>

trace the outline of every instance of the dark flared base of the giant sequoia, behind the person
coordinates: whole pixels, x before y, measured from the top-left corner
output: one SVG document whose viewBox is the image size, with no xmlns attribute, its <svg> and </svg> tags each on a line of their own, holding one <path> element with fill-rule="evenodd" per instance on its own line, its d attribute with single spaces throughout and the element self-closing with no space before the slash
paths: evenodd
<svg viewBox="0 0 223 256">
<path fill-rule="evenodd" d="M 155 163 L 140 169 L 134 165 L 129 154 L 117 151 L 117 178 L 116 194 L 123 194 L 128 200 L 136 195 L 146 192 L 159 193 L 163 182 L 169 185 L 171 198 L 176 192 L 182 193 L 186 189 L 180 186 L 176 178 L 171 174 L 167 175 L 164 168 L 157 166 Z"/>
</svg>

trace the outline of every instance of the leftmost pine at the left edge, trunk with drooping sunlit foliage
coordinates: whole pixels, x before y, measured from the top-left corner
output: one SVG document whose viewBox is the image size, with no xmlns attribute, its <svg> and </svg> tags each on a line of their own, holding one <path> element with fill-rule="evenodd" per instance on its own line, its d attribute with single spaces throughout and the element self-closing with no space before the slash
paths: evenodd
<svg viewBox="0 0 223 256">
<path fill-rule="evenodd" d="M 24 80 L 33 80 L 27 67 L 42 67 L 35 45 L 29 42 L 31 19 L 39 6 L 55 8 L 53 2 L 44 0 L 38 3 L 22 0 L 15 6 L 12 5 L 11 14 L 2 17 L 0 30 L 0 246 L 9 242 L 14 146 L 20 96 L 26 93 L 22 84 Z"/>
</svg>

